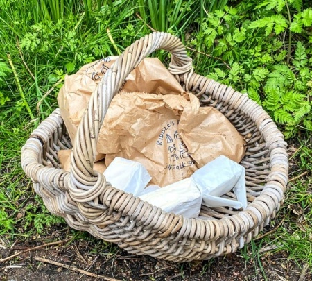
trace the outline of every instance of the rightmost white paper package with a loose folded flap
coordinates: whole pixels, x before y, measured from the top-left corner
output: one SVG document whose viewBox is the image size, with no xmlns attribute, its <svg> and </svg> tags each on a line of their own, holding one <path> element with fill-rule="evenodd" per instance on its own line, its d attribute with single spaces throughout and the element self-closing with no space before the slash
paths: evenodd
<svg viewBox="0 0 312 281">
<path fill-rule="evenodd" d="M 245 168 L 220 155 L 205 164 L 191 176 L 202 192 L 202 205 L 207 207 L 247 207 Z M 220 198 L 230 190 L 234 191 L 237 201 Z"/>
</svg>

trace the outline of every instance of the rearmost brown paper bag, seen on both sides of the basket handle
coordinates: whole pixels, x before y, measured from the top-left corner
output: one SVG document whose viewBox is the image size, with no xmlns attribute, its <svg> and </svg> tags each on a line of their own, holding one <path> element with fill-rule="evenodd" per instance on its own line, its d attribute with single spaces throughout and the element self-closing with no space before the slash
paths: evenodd
<svg viewBox="0 0 312 281">
<path fill-rule="evenodd" d="M 76 74 L 66 75 L 58 93 L 58 105 L 71 142 L 96 85 L 118 56 L 110 56 L 81 67 Z M 169 75 L 168 75 L 169 74 Z M 180 94 L 181 85 L 157 58 L 146 58 L 127 77 L 122 92 Z"/>
</svg>

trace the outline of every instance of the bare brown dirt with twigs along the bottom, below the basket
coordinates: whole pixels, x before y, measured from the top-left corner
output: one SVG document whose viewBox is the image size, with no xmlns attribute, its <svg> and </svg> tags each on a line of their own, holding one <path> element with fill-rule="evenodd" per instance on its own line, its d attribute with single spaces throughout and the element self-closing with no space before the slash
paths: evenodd
<svg viewBox="0 0 312 281">
<path fill-rule="evenodd" d="M 63 236 L 63 235 L 60 235 Z M 62 241 L 58 236 L 53 241 Z M 50 237 L 51 238 L 51 237 Z M 62 237 L 63 240 L 66 237 Z M 91 241 L 91 242 L 90 242 Z M 129 255 L 123 250 L 116 250 L 105 242 L 98 241 L 94 247 L 94 240 L 78 239 L 78 241 L 53 246 L 44 246 L 38 250 L 29 250 L 35 246 L 43 246 L 40 239 L 37 242 L 16 243 L 13 248 L 1 248 L 2 258 L 14 257 L 0 264 L 1 281 L 37 281 L 37 280 L 226 280 L 226 281 L 308 281 L 312 280 L 309 272 L 302 272 L 294 262 L 287 262 L 286 253 L 270 254 L 262 248 L 261 263 L 247 253 L 243 258 L 240 253 L 227 255 L 205 262 L 172 263 L 157 260 L 148 256 Z M 48 243 L 48 242 L 46 242 Z M 101 248 L 103 252 L 95 253 L 94 248 Z M 100 245 L 100 246 L 99 246 Z M 114 252 L 115 253 L 112 253 Z M 38 261 L 38 258 L 48 259 L 49 262 Z M 51 262 L 59 262 L 54 265 Z M 74 266 L 76 271 L 65 269 L 63 265 Z M 262 269 L 261 269 L 262 268 Z M 87 274 L 79 273 L 77 269 L 85 270 Z M 264 274 L 263 274 L 264 273 Z M 101 275 L 102 277 L 98 276 Z"/>
</svg>

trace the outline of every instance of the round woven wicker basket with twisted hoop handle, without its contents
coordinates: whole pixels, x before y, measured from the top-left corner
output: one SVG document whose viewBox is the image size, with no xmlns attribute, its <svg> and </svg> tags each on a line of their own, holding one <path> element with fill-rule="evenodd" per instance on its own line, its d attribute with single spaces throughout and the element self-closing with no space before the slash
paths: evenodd
<svg viewBox="0 0 312 281">
<path fill-rule="evenodd" d="M 171 52 L 169 71 L 201 105 L 222 112 L 248 144 L 245 167 L 248 207 L 202 207 L 209 220 L 167 214 L 139 198 L 115 189 L 92 169 L 98 132 L 126 76 L 157 49 Z M 286 142 L 269 115 L 236 92 L 193 72 L 192 60 L 180 40 L 153 33 L 125 49 L 92 94 L 71 153 L 71 172 L 60 169 L 57 151 L 71 148 L 60 110 L 35 129 L 21 153 L 21 165 L 33 180 L 49 211 L 71 228 L 111 241 L 129 253 L 175 262 L 209 259 L 235 252 L 268 225 L 284 199 L 288 180 Z M 227 194 L 233 196 L 233 194 Z"/>
</svg>

